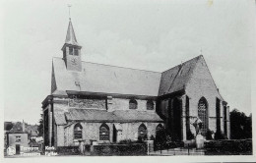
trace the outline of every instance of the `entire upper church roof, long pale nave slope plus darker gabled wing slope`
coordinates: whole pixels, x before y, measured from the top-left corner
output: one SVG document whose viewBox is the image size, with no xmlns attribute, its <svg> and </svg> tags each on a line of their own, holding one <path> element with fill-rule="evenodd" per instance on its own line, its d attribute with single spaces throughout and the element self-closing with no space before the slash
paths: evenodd
<svg viewBox="0 0 256 163">
<path fill-rule="evenodd" d="M 159 73 L 82 61 L 82 71 L 76 72 L 68 71 L 63 59 L 53 58 L 52 84 L 56 88 L 52 95 L 74 91 L 157 97 L 185 90 L 196 65 L 202 62 L 200 55 Z"/>
</svg>

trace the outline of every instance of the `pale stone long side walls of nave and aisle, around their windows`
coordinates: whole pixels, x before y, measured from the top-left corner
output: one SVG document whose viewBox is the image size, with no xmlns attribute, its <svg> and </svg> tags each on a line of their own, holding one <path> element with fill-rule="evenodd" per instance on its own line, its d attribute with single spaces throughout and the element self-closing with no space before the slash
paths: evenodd
<svg viewBox="0 0 256 163">
<path fill-rule="evenodd" d="M 129 100 L 123 98 L 112 98 L 108 103 L 108 111 L 114 110 L 129 110 Z M 138 102 L 137 111 L 148 111 L 156 112 L 156 102 L 154 101 L 154 110 L 147 110 L 147 100 L 136 99 Z M 84 99 L 84 100 L 71 100 L 68 98 L 58 98 L 53 99 L 53 112 L 54 114 L 64 115 L 69 109 L 74 108 L 81 109 L 106 109 L 105 99 Z M 157 114 L 157 113 L 156 113 Z M 54 121 L 53 121 L 54 122 Z M 54 145 L 57 146 L 72 146 L 75 145 L 74 142 L 74 124 L 67 125 L 54 125 Z M 138 138 L 138 128 L 142 123 L 123 123 L 120 126 L 123 128 L 121 139 L 133 139 Z M 90 141 L 90 139 L 95 139 L 99 141 L 99 127 L 101 123 L 81 123 L 83 127 L 83 139 Z M 113 123 L 106 123 L 109 127 L 109 138 L 112 141 L 113 135 Z M 156 128 L 159 123 L 145 123 L 148 129 L 148 136 L 156 136 Z M 119 137 L 120 138 L 120 137 Z"/>
</svg>

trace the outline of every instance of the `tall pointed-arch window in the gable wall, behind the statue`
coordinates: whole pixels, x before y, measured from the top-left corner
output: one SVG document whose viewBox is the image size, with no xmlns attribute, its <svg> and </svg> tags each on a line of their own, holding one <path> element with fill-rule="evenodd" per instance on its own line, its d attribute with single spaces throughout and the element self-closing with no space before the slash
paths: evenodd
<svg viewBox="0 0 256 163">
<path fill-rule="evenodd" d="M 206 136 L 208 130 L 208 102 L 205 97 L 200 98 L 198 102 L 198 117 L 203 122 L 202 135 Z"/>
</svg>

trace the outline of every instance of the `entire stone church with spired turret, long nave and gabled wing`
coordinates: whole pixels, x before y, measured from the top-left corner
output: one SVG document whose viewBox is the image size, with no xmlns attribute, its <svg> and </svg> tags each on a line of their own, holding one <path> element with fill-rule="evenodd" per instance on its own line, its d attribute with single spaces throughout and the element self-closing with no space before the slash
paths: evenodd
<svg viewBox="0 0 256 163">
<path fill-rule="evenodd" d="M 52 59 L 51 93 L 42 101 L 44 144 L 74 146 L 150 139 L 164 129 L 176 140 L 208 131 L 229 137 L 229 109 L 202 55 L 164 72 L 84 62 L 70 20 L 62 58 Z"/>
</svg>

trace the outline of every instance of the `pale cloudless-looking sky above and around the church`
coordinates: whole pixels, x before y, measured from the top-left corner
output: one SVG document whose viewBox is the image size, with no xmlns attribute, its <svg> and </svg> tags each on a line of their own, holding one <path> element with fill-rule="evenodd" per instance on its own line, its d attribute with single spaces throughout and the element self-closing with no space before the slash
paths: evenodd
<svg viewBox="0 0 256 163">
<path fill-rule="evenodd" d="M 255 1 L 8 0 L 4 120 L 38 123 L 69 22 L 84 61 L 162 72 L 203 55 L 230 110 L 251 113 Z"/>
</svg>

